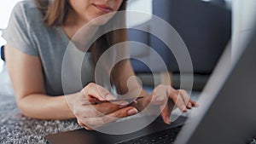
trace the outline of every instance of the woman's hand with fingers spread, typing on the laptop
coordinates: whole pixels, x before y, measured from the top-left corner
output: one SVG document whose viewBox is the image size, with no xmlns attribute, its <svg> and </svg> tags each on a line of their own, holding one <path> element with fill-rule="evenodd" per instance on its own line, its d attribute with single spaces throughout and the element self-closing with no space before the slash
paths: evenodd
<svg viewBox="0 0 256 144">
<path fill-rule="evenodd" d="M 173 89 L 172 86 L 163 84 L 157 86 L 144 102 L 148 105 L 150 101 L 154 107 L 153 109 L 149 108 L 149 111 L 154 111 L 155 106 L 159 106 L 160 110 L 162 110 L 161 116 L 166 124 L 171 124 L 170 115 L 173 107 L 177 106 L 181 112 L 187 112 L 188 109 L 199 106 L 189 98 L 185 90 Z M 146 105 L 144 103 L 144 106 Z"/>
</svg>

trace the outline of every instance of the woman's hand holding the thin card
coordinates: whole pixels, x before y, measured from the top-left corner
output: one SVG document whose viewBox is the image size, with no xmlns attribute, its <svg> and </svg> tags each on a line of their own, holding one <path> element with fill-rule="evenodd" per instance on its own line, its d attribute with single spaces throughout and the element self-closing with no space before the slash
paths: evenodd
<svg viewBox="0 0 256 144">
<path fill-rule="evenodd" d="M 127 101 L 115 101 L 114 96 L 98 84 L 90 83 L 76 95 L 66 95 L 68 106 L 86 130 L 98 128 L 119 118 L 137 113 L 135 107 L 127 107 Z M 100 102 L 104 101 L 104 102 Z"/>
</svg>

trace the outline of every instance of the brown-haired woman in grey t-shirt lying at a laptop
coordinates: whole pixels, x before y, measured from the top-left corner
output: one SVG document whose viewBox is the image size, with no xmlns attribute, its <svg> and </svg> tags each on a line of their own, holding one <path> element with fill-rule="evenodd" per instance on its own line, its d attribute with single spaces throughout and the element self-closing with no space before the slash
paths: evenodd
<svg viewBox="0 0 256 144">
<path fill-rule="evenodd" d="M 134 115 L 147 107 L 151 100 L 155 106 L 162 107 L 161 115 L 166 124 L 170 124 L 172 101 L 183 112 L 197 106 L 184 90 L 164 85 L 155 88 L 151 95 L 142 90 L 139 95 L 144 98 L 132 106 L 126 101 L 84 106 L 84 102 L 114 99 L 113 94 L 104 86 L 90 83 L 93 82 L 90 71 L 108 47 L 127 39 L 125 30 L 104 34 L 90 46 L 91 57 L 85 55 L 87 68 L 83 72 L 84 88 L 73 89 L 73 93 L 64 95 L 61 62 L 69 41 L 90 20 L 118 10 L 125 10 L 125 0 L 35 0 L 34 3 L 23 1 L 15 6 L 3 37 L 8 43 L 5 57 L 9 76 L 17 105 L 24 115 L 40 119 L 77 118 L 81 126 L 90 130 L 91 127 L 108 124 L 116 118 Z M 106 23 L 108 20 L 96 21 L 95 27 Z M 90 35 L 87 39 L 97 32 L 97 29 L 94 30 L 88 32 Z M 122 61 L 114 67 L 112 74 L 114 79 L 118 79 L 112 78 L 112 84 L 119 94 L 125 94 L 126 83 L 120 82 L 126 82 L 134 76 L 130 61 Z M 140 88 L 137 82 L 133 86 Z"/>
</svg>

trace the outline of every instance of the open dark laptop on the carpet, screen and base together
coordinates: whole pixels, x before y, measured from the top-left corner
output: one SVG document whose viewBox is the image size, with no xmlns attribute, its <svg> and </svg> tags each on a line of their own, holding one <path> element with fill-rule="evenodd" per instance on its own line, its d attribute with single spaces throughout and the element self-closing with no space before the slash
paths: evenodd
<svg viewBox="0 0 256 144">
<path fill-rule="evenodd" d="M 126 135 L 73 130 L 47 135 L 51 144 L 95 143 L 252 143 L 256 139 L 256 33 L 236 61 L 230 47 L 212 73 L 189 118 L 180 117 L 171 125 L 160 118 L 143 130 Z M 134 118 L 137 123 L 147 118 Z M 125 122 L 113 126 L 125 125 Z M 164 141 L 165 140 L 165 141 Z M 253 143 L 252 143 L 253 144 Z"/>
</svg>

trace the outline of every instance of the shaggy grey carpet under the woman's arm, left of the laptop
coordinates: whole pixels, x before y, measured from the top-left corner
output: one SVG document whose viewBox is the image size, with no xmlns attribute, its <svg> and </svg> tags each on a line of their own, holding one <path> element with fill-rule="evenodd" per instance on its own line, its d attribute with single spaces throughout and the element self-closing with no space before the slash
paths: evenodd
<svg viewBox="0 0 256 144">
<path fill-rule="evenodd" d="M 76 130 L 76 120 L 38 120 L 22 116 L 15 98 L 0 95 L 0 143 L 46 143 L 45 135 Z"/>
</svg>

